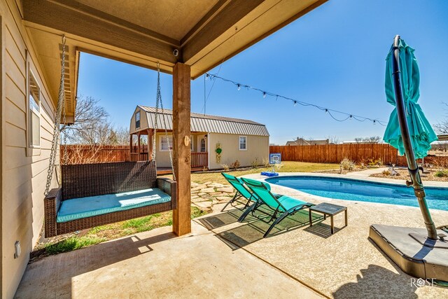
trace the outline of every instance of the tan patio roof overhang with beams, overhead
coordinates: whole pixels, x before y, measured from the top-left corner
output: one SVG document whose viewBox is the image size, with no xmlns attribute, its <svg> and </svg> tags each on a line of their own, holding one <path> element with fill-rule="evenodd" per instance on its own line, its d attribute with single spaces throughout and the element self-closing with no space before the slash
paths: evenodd
<svg viewBox="0 0 448 299">
<path fill-rule="evenodd" d="M 18 6 L 55 101 L 66 36 L 66 116 L 73 122 L 80 52 L 150 69 L 160 62 L 169 74 L 182 62 L 194 79 L 325 1 L 22 0 Z"/>
</svg>

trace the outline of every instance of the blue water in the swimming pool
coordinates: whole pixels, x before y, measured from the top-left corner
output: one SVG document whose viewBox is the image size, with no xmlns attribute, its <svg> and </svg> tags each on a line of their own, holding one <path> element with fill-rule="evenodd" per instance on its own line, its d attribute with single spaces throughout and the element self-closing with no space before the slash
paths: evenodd
<svg viewBox="0 0 448 299">
<path fill-rule="evenodd" d="M 322 176 L 280 176 L 267 179 L 269 183 L 300 190 L 312 195 L 338 200 L 380 202 L 419 207 L 412 187 L 359 181 L 355 179 L 330 178 Z M 448 211 L 448 188 L 425 187 L 426 201 L 430 209 Z"/>
</svg>

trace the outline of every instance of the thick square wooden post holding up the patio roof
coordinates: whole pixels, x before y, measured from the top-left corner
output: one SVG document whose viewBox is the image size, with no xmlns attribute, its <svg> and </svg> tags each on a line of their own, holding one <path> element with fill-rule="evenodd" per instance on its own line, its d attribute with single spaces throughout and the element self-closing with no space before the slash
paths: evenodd
<svg viewBox="0 0 448 299">
<path fill-rule="evenodd" d="M 173 165 L 177 181 L 177 209 L 173 211 L 173 232 L 191 232 L 190 195 L 190 66 L 176 63 L 173 69 Z"/>
</svg>

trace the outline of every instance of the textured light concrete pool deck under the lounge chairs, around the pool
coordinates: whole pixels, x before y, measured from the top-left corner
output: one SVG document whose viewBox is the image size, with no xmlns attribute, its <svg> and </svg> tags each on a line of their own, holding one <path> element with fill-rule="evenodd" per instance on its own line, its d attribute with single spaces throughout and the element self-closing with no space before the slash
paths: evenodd
<svg viewBox="0 0 448 299">
<path fill-rule="evenodd" d="M 370 172 L 364 176 L 356 172 L 355 176 L 349 177 L 365 179 L 367 175 L 370 175 Z M 258 174 L 246 177 L 266 178 Z M 372 179 L 402 183 L 392 179 Z M 447 182 L 424 183 L 426 186 L 448 185 Z M 255 218 L 248 218 L 245 223 L 235 223 L 235 218 L 241 215 L 237 210 L 206 215 L 195 221 L 228 240 L 229 246 L 234 249 L 242 248 L 252 253 L 330 298 L 448 298 L 448 288 L 417 288 L 412 285 L 413 277 L 402 272 L 368 239 L 369 228 L 373 223 L 424 228 L 419 208 L 332 200 L 275 185 L 272 185 L 272 191 L 315 204 L 332 202 L 346 206 L 349 211 L 349 225 L 344 227 L 343 214 L 335 216 L 337 228 L 335 234 L 331 235 L 329 218 L 309 227 L 307 215 L 296 214 L 280 223 L 269 237 L 263 239 L 262 235 L 269 225 Z M 430 211 L 436 225 L 448 223 L 448 211 Z"/>
</svg>

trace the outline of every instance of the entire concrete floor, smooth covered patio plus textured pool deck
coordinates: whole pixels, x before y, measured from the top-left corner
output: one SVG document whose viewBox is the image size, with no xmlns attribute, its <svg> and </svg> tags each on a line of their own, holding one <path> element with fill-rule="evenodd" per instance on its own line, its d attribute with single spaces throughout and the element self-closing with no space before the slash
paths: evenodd
<svg viewBox="0 0 448 299">
<path fill-rule="evenodd" d="M 367 179 L 372 172 L 297 175 Z M 221 212 L 223 204 L 216 204 L 186 237 L 159 228 L 31 263 L 16 298 L 448 298 L 448 288 L 413 285 L 367 238 L 373 223 L 423 228 L 418 208 L 331 200 L 281 186 L 272 191 L 344 205 L 349 225 L 343 227 L 343 214 L 335 216 L 330 235 L 330 219 L 310 228 L 308 215 L 297 213 L 263 239 L 269 225 L 252 216 L 237 223 L 241 211 Z M 436 225 L 448 223 L 448 211 L 431 214 Z"/>
</svg>

